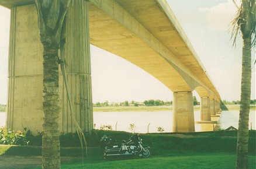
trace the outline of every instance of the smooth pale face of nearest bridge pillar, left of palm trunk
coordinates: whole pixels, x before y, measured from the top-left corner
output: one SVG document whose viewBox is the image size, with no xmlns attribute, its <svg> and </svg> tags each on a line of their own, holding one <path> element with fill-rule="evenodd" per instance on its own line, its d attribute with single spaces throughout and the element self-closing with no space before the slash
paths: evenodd
<svg viewBox="0 0 256 169">
<path fill-rule="evenodd" d="M 35 5 L 11 9 L 6 128 L 42 131 L 43 45 Z M 22 126 L 23 125 L 23 126 Z"/>
</svg>

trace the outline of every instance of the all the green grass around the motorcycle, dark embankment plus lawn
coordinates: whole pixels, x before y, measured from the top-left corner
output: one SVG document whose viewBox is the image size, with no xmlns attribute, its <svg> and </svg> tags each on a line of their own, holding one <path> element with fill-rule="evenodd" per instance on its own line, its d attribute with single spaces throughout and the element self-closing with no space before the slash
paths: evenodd
<svg viewBox="0 0 256 169">
<path fill-rule="evenodd" d="M 250 131 L 249 168 L 255 168 L 255 131 Z M 103 135 L 112 136 L 118 142 L 132 133 L 94 131 L 88 138 L 88 156 L 84 168 L 235 168 L 237 131 L 215 131 L 200 133 L 151 133 L 141 134 L 143 145 L 151 147 L 148 159 L 115 158 L 104 160 L 99 147 Z M 2 156 L 40 156 L 41 147 L 1 146 Z M 82 168 L 81 148 L 61 147 L 62 157 L 76 157 L 65 162 L 61 168 Z"/>
</svg>

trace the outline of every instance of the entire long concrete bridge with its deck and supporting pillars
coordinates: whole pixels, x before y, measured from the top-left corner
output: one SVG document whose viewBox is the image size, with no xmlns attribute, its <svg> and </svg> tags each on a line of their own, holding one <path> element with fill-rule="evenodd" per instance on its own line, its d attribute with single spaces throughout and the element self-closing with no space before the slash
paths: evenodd
<svg viewBox="0 0 256 169">
<path fill-rule="evenodd" d="M 6 128 L 42 131 L 43 48 L 33 0 L 0 0 L 11 9 Z M 221 98 L 165 0 L 76 0 L 65 24 L 64 54 L 72 105 L 84 131 L 93 128 L 89 44 L 119 55 L 174 92 L 173 132 L 194 132 L 192 91 L 202 121 Z M 60 132 L 75 132 L 60 73 Z"/>
</svg>

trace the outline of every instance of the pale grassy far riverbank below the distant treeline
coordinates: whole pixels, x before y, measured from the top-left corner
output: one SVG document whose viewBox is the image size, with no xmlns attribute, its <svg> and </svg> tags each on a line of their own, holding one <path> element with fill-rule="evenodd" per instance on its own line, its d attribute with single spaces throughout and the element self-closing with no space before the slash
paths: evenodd
<svg viewBox="0 0 256 169">
<path fill-rule="evenodd" d="M 222 110 L 240 110 L 239 104 L 221 105 Z M 172 111 L 172 105 L 163 106 L 139 106 L 139 107 L 94 107 L 94 112 L 110 112 L 110 111 Z M 200 105 L 195 105 L 194 110 L 200 110 Z M 250 110 L 255 110 L 255 104 L 250 105 Z"/>
</svg>

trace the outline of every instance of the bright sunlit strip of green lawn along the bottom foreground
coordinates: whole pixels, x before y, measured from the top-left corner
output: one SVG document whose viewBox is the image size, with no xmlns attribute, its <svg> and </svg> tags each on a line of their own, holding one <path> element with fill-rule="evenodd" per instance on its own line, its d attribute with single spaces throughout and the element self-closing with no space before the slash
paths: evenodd
<svg viewBox="0 0 256 169">
<path fill-rule="evenodd" d="M 81 161 L 62 164 L 61 168 L 83 168 Z M 236 154 L 195 153 L 190 156 L 150 157 L 148 159 L 84 162 L 84 168 L 236 168 Z M 249 156 L 249 168 L 255 168 L 255 156 Z"/>
</svg>

